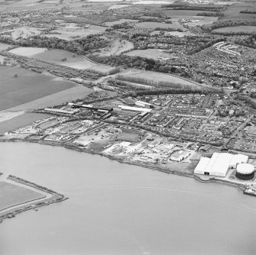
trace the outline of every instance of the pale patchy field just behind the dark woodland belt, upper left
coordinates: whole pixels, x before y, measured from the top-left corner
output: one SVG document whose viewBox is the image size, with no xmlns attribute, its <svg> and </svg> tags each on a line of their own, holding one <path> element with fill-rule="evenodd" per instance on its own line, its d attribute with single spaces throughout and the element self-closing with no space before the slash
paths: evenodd
<svg viewBox="0 0 256 255">
<path fill-rule="evenodd" d="M 89 28 L 65 28 L 59 27 L 56 30 L 50 31 L 50 34 L 45 34 L 46 37 L 57 37 L 63 40 L 73 40 L 82 37 L 87 37 L 89 34 L 102 34 L 107 27 L 89 25 Z M 54 34 L 56 33 L 56 34 Z"/>
</svg>

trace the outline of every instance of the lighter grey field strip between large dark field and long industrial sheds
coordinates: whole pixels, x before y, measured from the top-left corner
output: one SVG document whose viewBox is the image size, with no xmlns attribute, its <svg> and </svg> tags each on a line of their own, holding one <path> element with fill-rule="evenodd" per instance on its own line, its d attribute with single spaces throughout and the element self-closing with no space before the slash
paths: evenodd
<svg viewBox="0 0 256 255">
<path fill-rule="evenodd" d="M 26 102 L 23 105 L 18 105 L 13 108 L 9 108 L 8 111 L 28 111 L 37 108 L 47 108 L 54 105 L 60 105 L 66 102 L 76 100 L 77 98 L 86 97 L 92 93 L 92 89 L 86 88 L 85 86 L 74 86 L 70 89 L 65 89 L 60 92 L 56 92 L 51 95 L 46 95 L 42 98 L 35 99 L 30 102 Z"/>
</svg>

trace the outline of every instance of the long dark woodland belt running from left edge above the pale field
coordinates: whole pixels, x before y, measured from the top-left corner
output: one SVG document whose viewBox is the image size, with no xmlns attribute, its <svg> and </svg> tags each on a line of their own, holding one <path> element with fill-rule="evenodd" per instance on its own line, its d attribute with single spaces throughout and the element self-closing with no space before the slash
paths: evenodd
<svg viewBox="0 0 256 255">
<path fill-rule="evenodd" d="M 51 49 L 69 50 L 73 53 L 86 54 L 92 50 L 106 47 L 108 40 L 96 35 L 76 40 L 63 40 L 57 37 L 41 37 L 39 35 L 21 40 L 13 40 L 11 37 L 1 37 L 0 41 L 6 44 L 15 44 L 24 47 L 45 47 Z"/>
</svg>

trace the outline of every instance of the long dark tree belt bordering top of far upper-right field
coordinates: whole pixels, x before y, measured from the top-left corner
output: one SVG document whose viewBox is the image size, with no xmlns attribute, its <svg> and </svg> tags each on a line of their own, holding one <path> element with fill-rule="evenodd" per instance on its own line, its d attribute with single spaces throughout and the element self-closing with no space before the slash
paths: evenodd
<svg viewBox="0 0 256 255">
<path fill-rule="evenodd" d="M 255 26 L 256 20 L 226 20 L 226 21 L 216 21 L 212 24 L 204 24 L 202 26 L 204 31 L 212 31 L 219 27 L 236 27 L 236 26 Z"/>
</svg>

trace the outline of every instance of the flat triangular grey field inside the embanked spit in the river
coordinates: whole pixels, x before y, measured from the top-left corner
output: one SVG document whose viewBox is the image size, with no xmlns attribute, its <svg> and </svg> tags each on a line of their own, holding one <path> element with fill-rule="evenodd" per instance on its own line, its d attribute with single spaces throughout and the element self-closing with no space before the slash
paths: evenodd
<svg viewBox="0 0 256 255">
<path fill-rule="evenodd" d="M 25 202 L 43 199 L 45 197 L 45 195 L 42 195 L 41 193 L 8 182 L 0 182 L 0 192 L 0 211 Z"/>
</svg>

